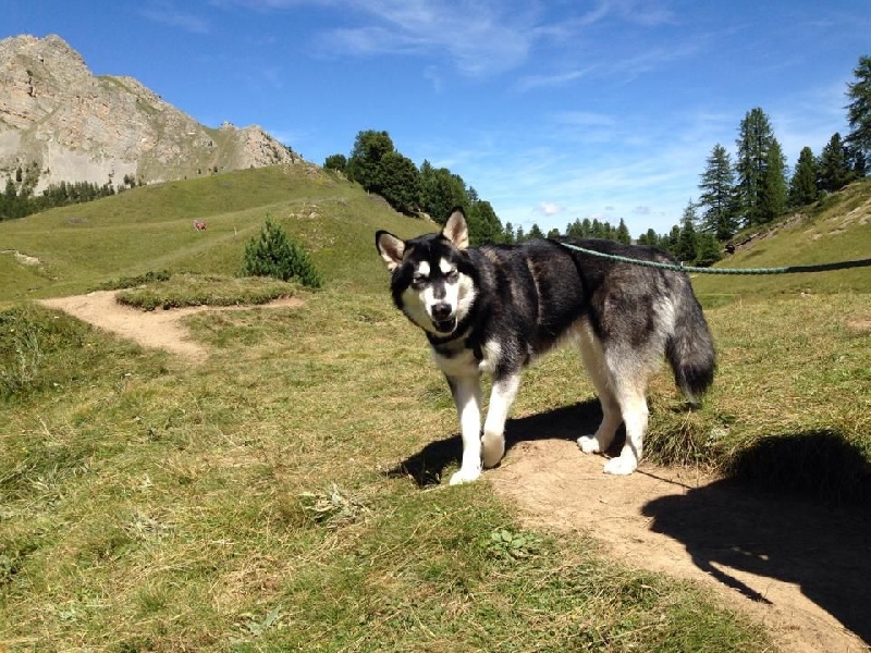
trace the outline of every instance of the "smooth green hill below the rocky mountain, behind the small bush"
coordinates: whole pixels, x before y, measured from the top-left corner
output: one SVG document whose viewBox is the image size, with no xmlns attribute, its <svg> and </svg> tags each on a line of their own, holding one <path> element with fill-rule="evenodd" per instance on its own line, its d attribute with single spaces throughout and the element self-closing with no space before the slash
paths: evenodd
<svg viewBox="0 0 871 653">
<path fill-rule="evenodd" d="M 268 213 L 309 247 L 333 283 L 383 281 L 371 256 L 376 229 L 410 235 L 425 227 L 315 167 L 144 186 L 0 222 L 0 301 L 71 295 L 149 270 L 236 274 Z M 205 220 L 207 231 L 196 231 L 194 220 Z M 14 251 L 38 264 L 22 264 Z"/>
</svg>

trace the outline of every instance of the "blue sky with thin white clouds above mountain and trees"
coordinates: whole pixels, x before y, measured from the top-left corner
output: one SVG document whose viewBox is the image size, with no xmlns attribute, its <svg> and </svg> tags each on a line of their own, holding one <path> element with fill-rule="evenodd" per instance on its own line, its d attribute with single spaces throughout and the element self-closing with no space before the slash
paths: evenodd
<svg viewBox="0 0 871 653">
<path fill-rule="evenodd" d="M 871 0 L 0 0 L 0 38 L 19 34 L 318 164 L 384 130 L 503 223 L 637 236 L 679 221 L 755 107 L 789 165 L 848 132 Z"/>
</svg>

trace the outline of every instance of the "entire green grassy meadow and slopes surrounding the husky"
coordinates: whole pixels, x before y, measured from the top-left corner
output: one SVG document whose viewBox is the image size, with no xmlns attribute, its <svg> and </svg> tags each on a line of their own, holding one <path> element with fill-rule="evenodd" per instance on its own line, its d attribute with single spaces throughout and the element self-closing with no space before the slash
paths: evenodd
<svg viewBox="0 0 871 653">
<path fill-rule="evenodd" d="M 235 279 L 267 215 L 322 289 Z M 854 185 L 722 264 L 868 257 L 870 220 L 871 184 Z M 446 486 L 455 457 L 426 483 L 405 472 L 457 426 L 391 305 L 377 229 L 433 226 L 314 167 L 0 223 L 0 250 L 38 259 L 0 254 L 0 651 L 774 650 L 704 588 L 610 558 L 594 529 L 525 527 L 487 472 Z M 185 318 L 210 350 L 192 365 L 34 301 L 122 280 L 155 310 L 253 306 Z M 717 378 L 689 411 L 663 370 L 649 457 L 866 503 L 871 272 L 694 283 Z M 279 295 L 300 304 L 254 306 Z M 592 399 L 580 378 L 574 353 L 547 358 L 513 417 Z"/>
</svg>

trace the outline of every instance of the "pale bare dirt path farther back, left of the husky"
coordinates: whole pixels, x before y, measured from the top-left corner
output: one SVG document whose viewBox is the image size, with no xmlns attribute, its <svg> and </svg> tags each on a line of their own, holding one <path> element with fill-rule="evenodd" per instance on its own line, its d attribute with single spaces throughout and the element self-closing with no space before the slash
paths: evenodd
<svg viewBox="0 0 871 653">
<path fill-rule="evenodd" d="M 191 340 L 181 319 L 208 310 L 242 310 L 249 306 L 197 306 L 173 310 L 144 311 L 115 301 L 115 291 L 97 291 L 87 295 L 44 299 L 42 305 L 58 308 L 95 326 L 133 340 L 144 347 L 167 349 L 193 362 L 208 358 L 208 349 Z M 299 306 L 299 299 L 278 299 L 266 307 Z"/>
</svg>

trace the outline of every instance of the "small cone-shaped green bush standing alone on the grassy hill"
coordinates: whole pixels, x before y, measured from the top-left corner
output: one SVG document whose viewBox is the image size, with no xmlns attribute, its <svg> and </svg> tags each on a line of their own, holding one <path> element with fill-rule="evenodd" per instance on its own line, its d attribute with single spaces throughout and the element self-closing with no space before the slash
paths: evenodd
<svg viewBox="0 0 871 653">
<path fill-rule="evenodd" d="M 260 237 L 252 238 L 245 246 L 242 273 L 246 276 L 274 276 L 282 281 L 296 279 L 312 288 L 323 285 L 323 279 L 305 247 L 287 236 L 281 224 L 269 215 Z"/>
</svg>

